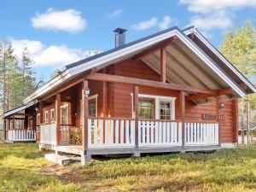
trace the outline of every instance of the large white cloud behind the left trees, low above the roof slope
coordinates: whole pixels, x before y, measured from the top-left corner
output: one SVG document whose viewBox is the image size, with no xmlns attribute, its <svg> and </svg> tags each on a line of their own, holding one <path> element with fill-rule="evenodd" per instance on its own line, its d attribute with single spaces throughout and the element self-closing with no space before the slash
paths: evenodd
<svg viewBox="0 0 256 192">
<path fill-rule="evenodd" d="M 32 41 L 28 39 L 12 39 L 15 55 L 21 55 L 23 47 L 27 47 L 30 51 L 36 67 L 53 66 L 64 67 L 74 61 L 79 61 L 90 56 L 91 52 L 83 49 L 71 49 L 67 45 L 50 45 L 45 46 L 40 41 Z"/>
</svg>

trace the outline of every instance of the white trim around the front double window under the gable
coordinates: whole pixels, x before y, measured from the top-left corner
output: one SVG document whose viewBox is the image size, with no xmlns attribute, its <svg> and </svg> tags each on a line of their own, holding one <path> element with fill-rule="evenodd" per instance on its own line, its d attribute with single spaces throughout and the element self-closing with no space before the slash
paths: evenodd
<svg viewBox="0 0 256 192">
<path fill-rule="evenodd" d="M 175 100 L 173 96 L 154 96 L 146 94 L 138 94 L 138 97 L 152 98 L 155 100 L 155 119 L 160 119 L 160 102 L 172 102 L 172 117 L 171 120 L 175 120 Z M 133 93 L 131 93 L 131 114 L 133 114 Z M 134 117 L 133 117 L 134 118 Z"/>
</svg>

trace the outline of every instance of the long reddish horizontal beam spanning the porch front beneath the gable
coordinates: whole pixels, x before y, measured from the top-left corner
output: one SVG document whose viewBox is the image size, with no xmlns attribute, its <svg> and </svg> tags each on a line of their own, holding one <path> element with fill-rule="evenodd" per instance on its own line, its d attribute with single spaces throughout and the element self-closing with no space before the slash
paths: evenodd
<svg viewBox="0 0 256 192">
<path fill-rule="evenodd" d="M 123 76 L 118 76 L 118 75 L 109 75 L 109 74 L 103 74 L 103 73 L 95 73 L 94 75 L 91 75 L 90 77 L 86 77 L 86 79 L 117 82 L 117 83 L 124 83 L 124 84 L 137 84 L 137 85 L 156 87 L 156 88 L 162 88 L 162 89 L 167 89 L 167 90 L 183 90 L 183 91 L 189 91 L 189 92 L 195 92 L 195 93 L 197 93 L 197 92 L 198 93 L 208 93 L 208 94 L 217 94 L 218 93 L 218 90 L 201 89 L 201 88 L 188 86 L 185 84 L 163 83 L 163 82 L 159 82 L 159 81 L 128 78 L 128 77 L 123 77 Z"/>
</svg>

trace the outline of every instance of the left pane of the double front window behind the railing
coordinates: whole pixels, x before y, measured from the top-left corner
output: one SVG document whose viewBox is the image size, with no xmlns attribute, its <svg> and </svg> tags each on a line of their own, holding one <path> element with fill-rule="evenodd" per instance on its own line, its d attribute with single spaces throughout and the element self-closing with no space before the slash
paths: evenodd
<svg viewBox="0 0 256 192">
<path fill-rule="evenodd" d="M 138 99 L 138 118 L 154 119 L 154 98 L 140 97 Z"/>
</svg>

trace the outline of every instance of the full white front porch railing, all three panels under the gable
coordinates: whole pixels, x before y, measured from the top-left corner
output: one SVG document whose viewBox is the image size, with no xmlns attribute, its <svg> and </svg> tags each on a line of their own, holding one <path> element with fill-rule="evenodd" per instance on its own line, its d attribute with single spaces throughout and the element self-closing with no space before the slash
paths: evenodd
<svg viewBox="0 0 256 192">
<path fill-rule="evenodd" d="M 186 146 L 218 145 L 218 123 L 185 122 Z M 88 119 L 89 148 L 135 147 L 135 119 L 90 118 Z M 138 147 L 181 147 L 182 122 L 139 119 Z"/>
</svg>

